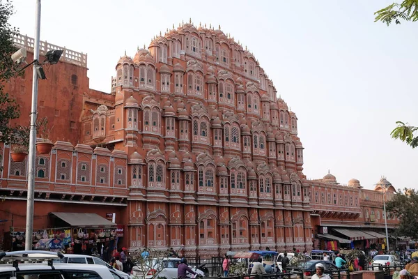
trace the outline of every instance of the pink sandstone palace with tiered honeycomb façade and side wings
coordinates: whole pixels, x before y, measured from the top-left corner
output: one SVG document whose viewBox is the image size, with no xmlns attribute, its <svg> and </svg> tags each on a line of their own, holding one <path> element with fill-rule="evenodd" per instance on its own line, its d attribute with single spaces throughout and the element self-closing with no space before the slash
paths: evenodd
<svg viewBox="0 0 418 279">
<path fill-rule="evenodd" d="M 15 43 L 32 51 L 27 36 Z M 39 83 L 38 116 L 54 127 L 54 149 L 36 158 L 36 229 L 52 227 L 51 212 L 116 213 L 121 246 L 184 246 L 184 255 L 202 257 L 382 243 L 382 190 L 393 195 L 394 187 L 386 179 L 375 190 L 356 179 L 342 185 L 330 173 L 308 180 L 295 112 L 220 28 L 180 24 L 148 50 L 125 54 L 110 93 L 89 89 L 87 70 L 86 54 L 64 49 Z M 6 84 L 22 125 L 31 71 Z M 0 143 L 1 234 L 24 227 L 26 160 L 15 163 Z"/>
</svg>

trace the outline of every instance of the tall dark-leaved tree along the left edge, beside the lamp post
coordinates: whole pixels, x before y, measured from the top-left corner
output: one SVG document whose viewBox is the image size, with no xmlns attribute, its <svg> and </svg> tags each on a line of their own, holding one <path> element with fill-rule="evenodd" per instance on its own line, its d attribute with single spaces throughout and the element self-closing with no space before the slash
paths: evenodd
<svg viewBox="0 0 418 279">
<path fill-rule="evenodd" d="M 11 1 L 0 0 L 0 142 L 6 144 L 16 142 L 16 132 L 19 128 L 10 126 L 10 120 L 20 116 L 15 98 L 4 92 L 4 84 L 16 77 L 19 71 L 19 66 L 11 59 L 11 54 L 17 50 L 13 36 L 19 34 L 19 30 L 8 23 L 13 13 Z"/>
</svg>

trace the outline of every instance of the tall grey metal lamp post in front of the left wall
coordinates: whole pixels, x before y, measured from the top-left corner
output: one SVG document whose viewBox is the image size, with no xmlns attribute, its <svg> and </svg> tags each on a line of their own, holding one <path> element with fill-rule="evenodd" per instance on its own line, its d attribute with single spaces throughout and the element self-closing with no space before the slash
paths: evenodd
<svg viewBox="0 0 418 279">
<path fill-rule="evenodd" d="M 40 40 L 40 0 L 36 0 L 35 13 L 35 41 L 33 42 L 33 60 L 39 60 Z M 38 72 L 33 68 L 32 81 L 32 105 L 31 105 L 31 130 L 29 134 L 29 172 L 28 172 L 28 197 L 26 201 L 26 240 L 25 250 L 32 250 L 33 236 L 33 207 L 35 198 L 35 165 L 36 165 L 36 114 L 38 105 Z"/>
</svg>

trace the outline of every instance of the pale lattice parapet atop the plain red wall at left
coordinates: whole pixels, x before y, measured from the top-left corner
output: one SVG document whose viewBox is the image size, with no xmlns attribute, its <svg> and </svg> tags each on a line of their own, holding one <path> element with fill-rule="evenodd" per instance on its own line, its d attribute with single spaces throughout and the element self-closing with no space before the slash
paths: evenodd
<svg viewBox="0 0 418 279">
<path fill-rule="evenodd" d="M 17 35 L 13 38 L 16 47 L 25 47 L 26 51 L 33 52 L 35 45 L 35 39 L 25 36 Z M 40 40 L 39 42 L 39 54 L 45 56 L 49 50 L 63 50 L 63 54 L 59 59 L 62 62 L 74 64 L 87 68 L 87 54 L 83 52 L 75 52 L 74 50 L 67 50 L 65 47 L 59 47 L 58 45 L 52 45 L 46 41 Z"/>
</svg>

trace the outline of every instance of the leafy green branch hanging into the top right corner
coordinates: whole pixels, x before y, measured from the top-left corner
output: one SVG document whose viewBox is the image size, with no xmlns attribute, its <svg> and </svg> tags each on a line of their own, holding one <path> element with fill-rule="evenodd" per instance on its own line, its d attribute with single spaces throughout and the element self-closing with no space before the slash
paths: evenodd
<svg viewBox="0 0 418 279">
<path fill-rule="evenodd" d="M 384 22 L 389 26 L 393 21 L 401 24 L 401 20 L 416 22 L 418 20 L 418 0 L 403 0 L 402 3 L 392 3 L 378 10 L 375 22 Z"/>
</svg>

